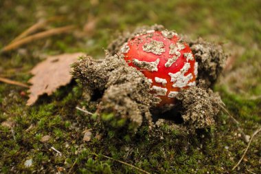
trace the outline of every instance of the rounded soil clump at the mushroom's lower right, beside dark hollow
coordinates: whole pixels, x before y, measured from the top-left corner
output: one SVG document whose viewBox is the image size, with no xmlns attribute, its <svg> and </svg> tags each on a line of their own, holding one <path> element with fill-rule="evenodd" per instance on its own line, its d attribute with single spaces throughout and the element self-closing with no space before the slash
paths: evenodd
<svg viewBox="0 0 261 174">
<path fill-rule="evenodd" d="M 214 126 L 214 118 L 220 111 L 218 94 L 204 87 L 205 82 L 201 80 L 197 87 L 183 89 L 176 96 L 182 106 L 181 116 L 190 129 Z"/>
</svg>

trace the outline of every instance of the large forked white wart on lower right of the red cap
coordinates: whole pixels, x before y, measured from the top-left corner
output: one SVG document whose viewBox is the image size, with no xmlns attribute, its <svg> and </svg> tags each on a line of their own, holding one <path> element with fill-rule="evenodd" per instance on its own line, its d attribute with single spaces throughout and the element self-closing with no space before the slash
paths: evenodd
<svg viewBox="0 0 261 174">
<path fill-rule="evenodd" d="M 185 73 L 188 72 L 188 69 L 190 69 L 190 63 L 185 63 L 180 72 L 174 74 L 170 72 L 168 74 L 171 77 L 170 81 L 173 82 L 172 87 L 181 88 L 188 85 L 188 82 L 193 78 L 191 73 L 185 76 Z"/>
</svg>

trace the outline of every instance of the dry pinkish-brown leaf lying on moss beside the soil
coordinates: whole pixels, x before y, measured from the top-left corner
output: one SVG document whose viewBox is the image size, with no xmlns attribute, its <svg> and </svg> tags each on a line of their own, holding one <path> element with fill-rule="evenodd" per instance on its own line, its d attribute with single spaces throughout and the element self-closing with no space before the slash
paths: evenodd
<svg viewBox="0 0 261 174">
<path fill-rule="evenodd" d="M 60 54 L 49 56 L 47 59 L 34 67 L 31 73 L 34 75 L 29 83 L 29 99 L 26 105 L 33 105 L 39 96 L 50 96 L 58 87 L 67 85 L 71 81 L 70 65 L 77 61 L 83 53 Z"/>
</svg>

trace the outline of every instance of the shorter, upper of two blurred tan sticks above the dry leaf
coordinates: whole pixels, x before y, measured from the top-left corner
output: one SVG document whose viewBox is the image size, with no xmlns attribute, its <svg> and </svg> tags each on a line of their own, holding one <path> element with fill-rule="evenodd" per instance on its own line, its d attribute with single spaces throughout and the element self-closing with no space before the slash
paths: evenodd
<svg viewBox="0 0 261 174">
<path fill-rule="evenodd" d="M 52 22 L 52 21 L 57 21 L 59 19 L 62 19 L 62 18 L 61 17 L 52 17 L 45 21 L 39 21 L 38 23 L 35 23 L 34 25 L 32 25 L 30 28 L 27 28 L 24 32 L 19 34 L 19 36 L 16 36 L 16 38 L 14 38 L 14 40 L 11 41 L 11 43 L 14 43 L 15 41 L 18 41 L 18 40 L 24 38 L 25 36 L 28 36 L 32 32 L 35 32 L 36 30 L 43 28 L 47 23 Z"/>
</svg>

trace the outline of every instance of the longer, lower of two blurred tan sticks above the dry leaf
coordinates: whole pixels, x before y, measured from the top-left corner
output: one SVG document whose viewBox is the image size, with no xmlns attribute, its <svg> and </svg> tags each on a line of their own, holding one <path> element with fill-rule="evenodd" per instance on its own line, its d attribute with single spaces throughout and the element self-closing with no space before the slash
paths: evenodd
<svg viewBox="0 0 261 174">
<path fill-rule="evenodd" d="M 53 28 L 53 29 L 47 30 L 45 32 L 39 32 L 37 34 L 33 34 L 31 36 L 27 36 L 27 37 L 25 37 L 23 39 L 20 39 L 19 41 L 15 41 L 13 43 L 10 43 L 10 44 L 6 45 L 5 47 L 3 47 L 2 50 L 0 50 L 0 53 L 8 52 L 10 50 L 14 50 L 17 47 L 20 47 L 21 45 L 24 45 L 25 43 L 30 43 L 30 42 L 36 41 L 38 39 L 43 39 L 43 38 L 46 38 L 48 36 L 53 36 L 53 35 L 56 35 L 56 34 L 69 32 L 73 28 L 75 28 L 74 25 L 67 25 L 65 27 Z"/>
</svg>

